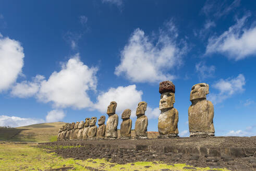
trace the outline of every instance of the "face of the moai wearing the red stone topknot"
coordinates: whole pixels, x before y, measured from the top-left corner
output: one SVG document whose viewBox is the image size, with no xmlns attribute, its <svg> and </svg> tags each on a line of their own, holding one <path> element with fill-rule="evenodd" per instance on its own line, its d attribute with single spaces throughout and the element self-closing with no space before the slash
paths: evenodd
<svg viewBox="0 0 256 171">
<path fill-rule="evenodd" d="M 175 103 L 175 94 L 172 92 L 165 92 L 161 94 L 159 109 L 172 108 Z"/>
</svg>

